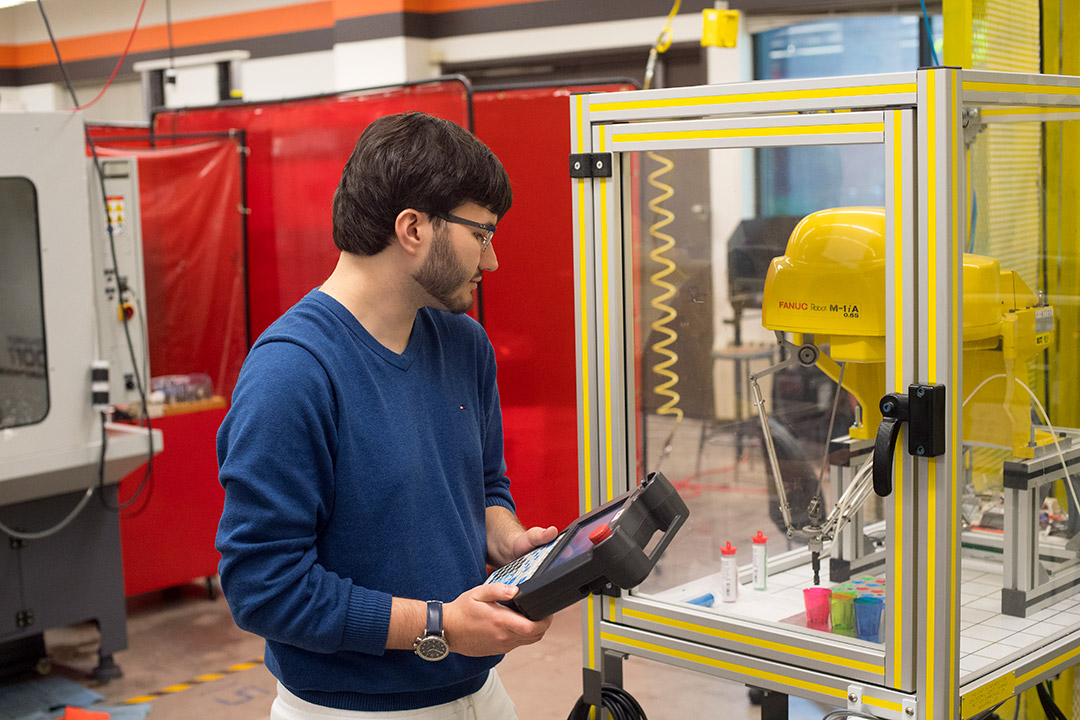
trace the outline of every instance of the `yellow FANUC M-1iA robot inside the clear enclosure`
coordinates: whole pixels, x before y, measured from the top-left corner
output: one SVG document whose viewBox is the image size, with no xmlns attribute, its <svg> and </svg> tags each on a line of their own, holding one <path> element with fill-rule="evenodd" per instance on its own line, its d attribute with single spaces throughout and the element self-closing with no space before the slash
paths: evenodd
<svg viewBox="0 0 1080 720">
<path fill-rule="evenodd" d="M 752 390 L 777 480 L 781 514 L 788 536 L 808 542 L 815 582 L 824 544 L 835 540 L 845 525 L 856 517 L 872 488 L 880 495 L 891 491 L 889 474 L 899 429 L 895 420 L 904 418 L 901 398 L 886 394 L 889 304 L 885 240 L 885 208 L 841 207 L 813 213 L 792 232 L 784 255 L 772 260 L 765 281 L 761 324 L 777 334 L 784 359 L 752 376 Z M 964 447 L 1007 448 L 1012 456 L 1008 464 L 1013 472 L 1015 465 L 1023 466 L 1055 452 L 1062 454 L 1070 447 L 1071 436 L 1032 421 L 1032 400 L 1038 405 L 1038 397 L 1027 382 L 1039 353 L 1053 343 L 1053 308 L 1041 304 L 1018 273 L 1002 270 L 998 260 L 990 257 L 964 254 L 962 282 Z M 808 513 L 810 521 L 804 527 L 795 527 L 792 521 L 758 384 L 759 378 L 796 363 L 816 366 L 850 393 L 855 420 L 843 441 L 856 448 L 851 454 L 859 459 L 853 463 L 853 477 L 841 483 L 842 493 L 832 511 L 825 515 L 820 498 L 815 497 Z M 870 447 L 873 451 L 866 452 Z M 1059 471 L 1065 462 L 1053 467 Z M 1037 485 L 1052 481 L 1051 477 L 1057 479 L 1062 475 L 1044 475 L 1041 478 L 1044 481 Z M 1064 479 L 1071 492 L 1067 472 Z M 1007 516 L 1010 511 L 1018 516 L 1027 510 L 1013 503 L 1007 508 Z M 1017 555 L 1038 553 L 1038 548 L 1020 542 L 1023 539 L 1010 536 L 1018 532 L 1023 520 L 1005 517 L 1005 536 L 1003 543 L 998 543 L 1004 546 L 1007 565 L 1002 612 L 1022 616 L 1023 600 L 1015 596 L 1010 599 L 1008 590 L 1030 588 L 1009 585 L 1018 583 Z M 970 528 L 974 524 L 966 525 Z M 854 556 L 849 559 L 859 559 L 862 544 L 853 542 L 840 552 Z M 1075 553 L 1063 553 L 1062 559 L 1069 555 L 1075 561 Z M 1048 571 L 1038 562 L 1035 566 L 1040 571 L 1034 583 L 1049 580 Z M 836 580 L 837 572 L 834 570 L 832 574 Z"/>
</svg>

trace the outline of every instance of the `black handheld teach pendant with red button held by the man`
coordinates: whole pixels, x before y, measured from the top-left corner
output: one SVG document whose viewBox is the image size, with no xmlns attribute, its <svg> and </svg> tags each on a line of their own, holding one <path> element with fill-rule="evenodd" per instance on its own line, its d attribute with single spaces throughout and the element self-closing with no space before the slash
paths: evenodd
<svg viewBox="0 0 1080 720">
<path fill-rule="evenodd" d="M 546 617 L 590 593 L 639 585 L 689 511 L 661 473 L 571 522 L 555 540 L 492 572 L 487 583 L 516 585 L 504 604 Z M 653 535 L 660 538 L 653 541 Z"/>
</svg>

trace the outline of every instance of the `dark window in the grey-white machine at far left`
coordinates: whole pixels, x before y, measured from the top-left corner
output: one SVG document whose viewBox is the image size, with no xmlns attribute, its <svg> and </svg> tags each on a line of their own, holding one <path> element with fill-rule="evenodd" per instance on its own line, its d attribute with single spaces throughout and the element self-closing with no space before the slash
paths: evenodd
<svg viewBox="0 0 1080 720">
<path fill-rule="evenodd" d="M 37 192 L 25 177 L 0 177 L 0 429 L 49 412 Z"/>
</svg>

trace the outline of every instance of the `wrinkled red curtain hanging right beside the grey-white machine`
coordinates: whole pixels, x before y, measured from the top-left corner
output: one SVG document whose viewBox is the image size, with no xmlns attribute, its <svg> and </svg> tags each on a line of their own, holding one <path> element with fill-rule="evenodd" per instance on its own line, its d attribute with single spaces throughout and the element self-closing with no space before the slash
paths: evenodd
<svg viewBox="0 0 1080 720">
<path fill-rule="evenodd" d="M 247 353 L 239 144 L 95 145 L 138 159 L 151 375 L 205 372 L 229 397 Z"/>
</svg>

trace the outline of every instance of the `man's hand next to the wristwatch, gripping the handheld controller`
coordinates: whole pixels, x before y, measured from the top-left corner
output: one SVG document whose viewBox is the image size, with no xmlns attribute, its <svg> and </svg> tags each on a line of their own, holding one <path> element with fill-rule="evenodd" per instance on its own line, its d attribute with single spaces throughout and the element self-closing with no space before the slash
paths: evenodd
<svg viewBox="0 0 1080 720">
<path fill-rule="evenodd" d="M 516 594 L 512 585 L 492 583 L 465 590 L 443 606 L 443 630 L 450 652 L 473 657 L 500 655 L 542 638 L 551 627 L 551 617 L 532 622 L 499 604 Z"/>
</svg>

